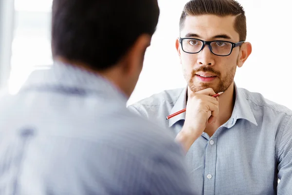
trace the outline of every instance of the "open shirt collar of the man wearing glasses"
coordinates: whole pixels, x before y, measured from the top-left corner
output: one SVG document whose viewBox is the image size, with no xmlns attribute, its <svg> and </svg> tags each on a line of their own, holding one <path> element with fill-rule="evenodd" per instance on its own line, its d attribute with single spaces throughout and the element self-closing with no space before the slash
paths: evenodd
<svg viewBox="0 0 292 195">
<path fill-rule="evenodd" d="M 227 128 L 231 128 L 236 123 L 237 119 L 239 118 L 246 119 L 257 126 L 256 118 L 252 112 L 252 109 L 250 107 L 250 104 L 244 92 L 240 90 L 239 88 L 237 88 L 236 84 L 234 84 L 234 89 L 235 89 L 235 96 L 236 96 L 235 104 L 234 104 L 231 118 L 226 123 Z M 186 92 L 187 92 L 187 87 L 185 87 L 185 89 L 180 94 L 179 98 L 177 99 L 173 108 L 171 109 L 170 114 L 176 113 L 186 107 L 186 95 L 187 95 Z M 184 120 L 184 119 L 185 119 L 185 112 L 180 115 L 170 118 L 168 126 L 171 127 L 179 120 Z"/>
</svg>

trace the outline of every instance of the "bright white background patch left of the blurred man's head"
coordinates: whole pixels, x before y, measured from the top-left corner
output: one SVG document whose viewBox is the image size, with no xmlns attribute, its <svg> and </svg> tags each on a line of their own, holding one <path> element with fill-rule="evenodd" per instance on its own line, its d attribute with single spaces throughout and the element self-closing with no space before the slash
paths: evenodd
<svg viewBox="0 0 292 195">
<path fill-rule="evenodd" d="M 9 1 L 9 0 L 8 0 Z M 15 0 L 9 92 L 18 92 L 35 66 L 51 65 L 52 0 Z"/>
</svg>

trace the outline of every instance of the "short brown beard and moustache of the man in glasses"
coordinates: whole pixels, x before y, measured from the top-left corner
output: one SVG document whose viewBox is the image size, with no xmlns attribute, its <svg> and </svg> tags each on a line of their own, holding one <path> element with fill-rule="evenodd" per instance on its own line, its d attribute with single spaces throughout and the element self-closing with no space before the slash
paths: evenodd
<svg viewBox="0 0 292 195">
<path fill-rule="evenodd" d="M 194 92 L 201 91 L 206 88 L 212 88 L 214 92 L 217 94 L 219 92 L 224 92 L 227 90 L 227 88 L 231 85 L 233 82 L 235 72 L 236 72 L 236 65 L 233 66 L 230 70 L 226 72 L 224 76 L 213 68 L 209 66 L 201 66 L 197 69 L 192 70 L 190 75 L 184 74 L 184 78 L 187 81 L 187 84 L 189 88 Z M 196 76 L 196 73 L 198 72 L 206 72 L 206 73 L 212 73 L 213 75 L 217 76 L 217 79 L 213 82 L 194 82 L 194 78 Z"/>
</svg>

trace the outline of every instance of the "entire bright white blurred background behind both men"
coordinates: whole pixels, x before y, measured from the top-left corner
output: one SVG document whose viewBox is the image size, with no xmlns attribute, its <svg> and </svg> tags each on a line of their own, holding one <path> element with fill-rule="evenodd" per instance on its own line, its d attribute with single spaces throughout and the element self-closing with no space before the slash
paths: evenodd
<svg viewBox="0 0 292 195">
<path fill-rule="evenodd" d="M 159 0 L 160 20 L 146 51 L 142 74 L 128 104 L 165 89 L 186 86 L 175 39 L 188 0 Z M 253 52 L 237 69 L 238 87 L 292 109 L 291 1 L 238 0 L 246 11 Z M 52 0 L 0 0 L 0 88 L 16 94 L 33 71 L 53 63 L 50 44 Z"/>
</svg>

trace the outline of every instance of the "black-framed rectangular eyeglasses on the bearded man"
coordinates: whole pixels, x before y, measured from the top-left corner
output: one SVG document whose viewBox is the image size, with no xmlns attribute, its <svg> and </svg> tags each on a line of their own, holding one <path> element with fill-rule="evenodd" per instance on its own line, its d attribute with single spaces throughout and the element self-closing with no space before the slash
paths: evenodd
<svg viewBox="0 0 292 195">
<path fill-rule="evenodd" d="M 237 43 L 225 40 L 204 41 L 194 38 L 180 38 L 182 49 L 185 53 L 197 54 L 201 52 L 205 45 L 209 46 L 210 51 L 216 56 L 229 56 L 233 48 L 241 46 L 244 41 Z"/>
</svg>

